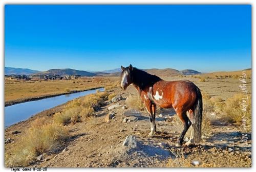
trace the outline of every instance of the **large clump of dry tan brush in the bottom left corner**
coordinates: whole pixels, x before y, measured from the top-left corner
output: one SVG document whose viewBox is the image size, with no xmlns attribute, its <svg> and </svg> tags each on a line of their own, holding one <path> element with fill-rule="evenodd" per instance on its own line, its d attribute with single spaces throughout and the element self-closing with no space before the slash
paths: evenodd
<svg viewBox="0 0 256 172">
<path fill-rule="evenodd" d="M 28 166 L 35 157 L 52 150 L 61 140 L 68 138 L 68 131 L 54 122 L 36 119 L 32 127 L 20 139 L 19 146 L 13 148 L 12 155 L 6 157 L 6 166 Z"/>
</svg>

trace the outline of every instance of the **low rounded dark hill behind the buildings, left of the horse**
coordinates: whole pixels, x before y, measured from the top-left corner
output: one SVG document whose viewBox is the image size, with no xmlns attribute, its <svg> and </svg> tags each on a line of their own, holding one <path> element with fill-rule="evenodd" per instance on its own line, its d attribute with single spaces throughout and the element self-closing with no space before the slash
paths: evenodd
<svg viewBox="0 0 256 172">
<path fill-rule="evenodd" d="M 96 76 L 95 73 L 84 71 L 84 70 L 75 70 L 75 69 L 50 69 L 44 72 L 35 73 L 35 75 L 59 75 L 59 76 L 80 75 L 80 76 L 86 76 L 86 77 Z"/>
</svg>

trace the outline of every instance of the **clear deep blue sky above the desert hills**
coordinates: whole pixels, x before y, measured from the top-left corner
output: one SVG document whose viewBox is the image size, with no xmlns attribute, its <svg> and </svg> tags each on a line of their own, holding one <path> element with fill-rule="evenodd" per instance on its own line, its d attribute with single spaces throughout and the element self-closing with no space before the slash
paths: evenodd
<svg viewBox="0 0 256 172">
<path fill-rule="evenodd" d="M 250 5 L 6 5 L 5 66 L 251 67 Z"/>
</svg>

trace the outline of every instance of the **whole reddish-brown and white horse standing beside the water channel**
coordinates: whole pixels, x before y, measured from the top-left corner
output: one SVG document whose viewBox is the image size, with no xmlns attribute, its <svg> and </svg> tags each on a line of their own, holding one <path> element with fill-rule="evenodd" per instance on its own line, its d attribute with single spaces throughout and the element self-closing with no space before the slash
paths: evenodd
<svg viewBox="0 0 256 172">
<path fill-rule="evenodd" d="M 200 142 L 202 126 L 202 95 L 200 89 L 188 80 L 164 81 L 161 78 L 139 70 L 132 65 L 121 66 L 121 88 L 125 90 L 133 84 L 138 90 L 145 108 L 150 114 L 151 132 L 148 136 L 156 134 L 156 106 L 161 108 L 174 108 L 183 123 L 176 146 L 181 146 L 183 138 L 192 125 L 193 129 L 189 141 L 185 145 Z M 189 118 L 186 112 L 189 112 Z"/>
</svg>

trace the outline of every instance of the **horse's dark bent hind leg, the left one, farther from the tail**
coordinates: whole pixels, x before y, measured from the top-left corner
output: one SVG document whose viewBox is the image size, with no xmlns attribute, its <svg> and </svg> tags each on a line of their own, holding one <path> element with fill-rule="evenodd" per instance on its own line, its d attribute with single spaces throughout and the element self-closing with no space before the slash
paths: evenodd
<svg viewBox="0 0 256 172">
<path fill-rule="evenodd" d="M 179 118 L 182 121 L 183 126 L 184 126 L 183 131 L 181 132 L 180 137 L 178 139 L 178 142 L 176 143 L 176 146 L 181 146 L 181 144 L 183 142 L 183 138 L 184 138 L 188 128 L 191 126 L 191 122 L 188 119 L 186 112 L 179 112 L 179 111 L 177 112 L 176 111 L 176 113 L 179 116 Z"/>
</svg>

